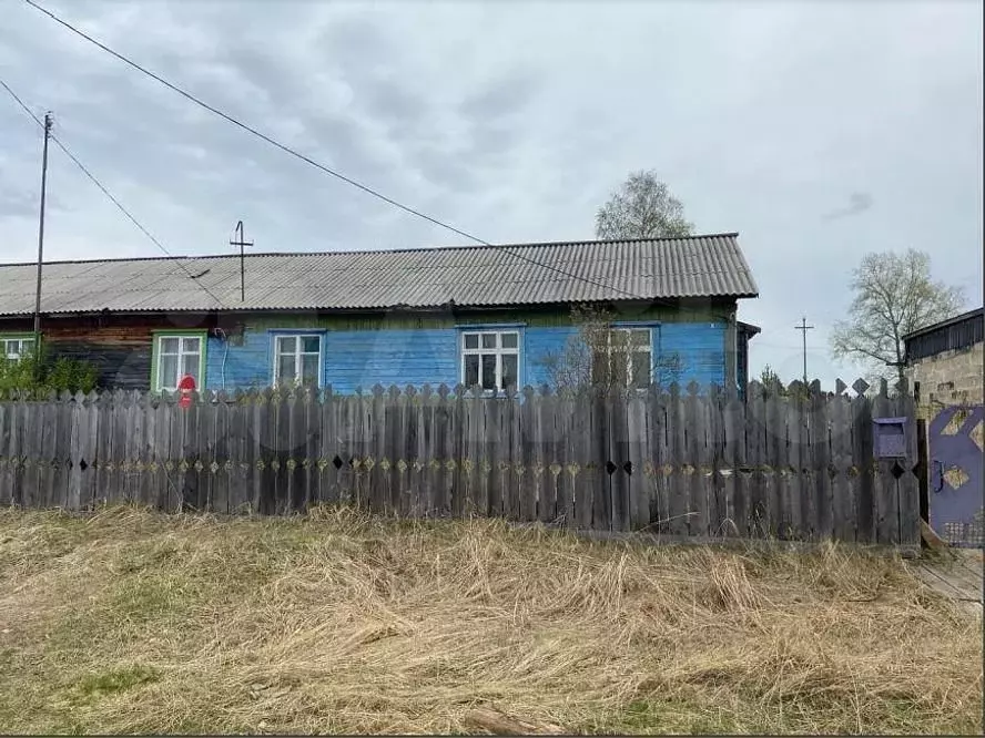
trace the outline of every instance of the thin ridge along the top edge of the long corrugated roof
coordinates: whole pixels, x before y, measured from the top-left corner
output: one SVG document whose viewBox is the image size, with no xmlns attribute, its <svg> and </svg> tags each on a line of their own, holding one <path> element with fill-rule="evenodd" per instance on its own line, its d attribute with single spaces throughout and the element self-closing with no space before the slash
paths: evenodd
<svg viewBox="0 0 985 738">
<path fill-rule="evenodd" d="M 530 243 L 518 243 L 518 244 L 475 244 L 468 246 L 417 246 L 417 247 L 402 247 L 402 248 L 364 248 L 364 249 L 346 249 L 338 252 L 254 252 L 253 254 L 246 254 L 245 258 L 262 258 L 267 256 L 345 256 L 345 255 L 354 255 L 354 254 L 416 254 L 416 253 L 427 253 L 427 252 L 454 252 L 454 250 L 467 250 L 474 248 L 497 248 L 497 249 L 509 249 L 509 248 L 531 248 L 531 247 L 558 247 L 558 246 L 580 246 L 580 245 L 590 245 L 590 244 L 634 244 L 634 243 L 643 243 L 643 242 L 672 242 L 672 240 L 693 240 L 699 238 L 738 238 L 738 232 L 727 232 L 727 233 L 704 233 L 704 234 L 693 234 L 688 236 L 641 236 L 636 238 L 587 238 L 582 240 L 545 240 L 545 242 L 530 242 Z M 95 259 L 60 259 L 54 262 L 44 262 L 45 266 L 59 265 L 59 264 L 120 264 L 122 262 L 196 262 L 202 259 L 226 259 L 226 258 L 240 258 L 238 254 L 199 254 L 199 255 L 184 255 L 180 254 L 176 256 L 130 256 L 130 257 L 111 257 L 111 258 L 95 258 Z M 37 262 L 11 262 L 11 263 L 0 263 L 0 268 L 3 267 L 20 267 L 28 266 L 33 267 L 37 266 Z"/>
</svg>

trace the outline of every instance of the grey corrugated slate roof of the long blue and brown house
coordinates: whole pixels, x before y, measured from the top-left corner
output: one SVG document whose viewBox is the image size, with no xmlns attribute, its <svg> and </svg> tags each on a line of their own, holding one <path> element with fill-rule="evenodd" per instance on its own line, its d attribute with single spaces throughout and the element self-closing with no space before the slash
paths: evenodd
<svg viewBox="0 0 985 738">
<path fill-rule="evenodd" d="M 253 254 L 246 256 L 245 303 L 240 301 L 238 255 L 54 262 L 44 265 L 41 310 L 386 309 L 453 300 L 495 307 L 755 297 L 737 236 Z M 34 264 L 0 265 L 0 315 L 32 314 L 34 284 Z"/>
</svg>

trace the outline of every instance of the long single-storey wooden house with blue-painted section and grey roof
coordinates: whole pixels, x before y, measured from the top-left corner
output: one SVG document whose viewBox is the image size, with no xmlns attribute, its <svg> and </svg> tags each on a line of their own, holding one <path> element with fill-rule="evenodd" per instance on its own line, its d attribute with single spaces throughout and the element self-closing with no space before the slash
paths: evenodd
<svg viewBox="0 0 985 738">
<path fill-rule="evenodd" d="M 491 390 L 549 383 L 572 306 L 601 306 L 627 331 L 629 383 L 673 356 L 683 385 L 744 385 L 759 328 L 737 310 L 758 288 L 737 236 L 247 255 L 243 296 L 237 255 L 49 263 L 42 341 L 94 362 L 103 387 Z M 0 266 L 12 358 L 31 344 L 34 285 L 34 264 Z"/>
</svg>

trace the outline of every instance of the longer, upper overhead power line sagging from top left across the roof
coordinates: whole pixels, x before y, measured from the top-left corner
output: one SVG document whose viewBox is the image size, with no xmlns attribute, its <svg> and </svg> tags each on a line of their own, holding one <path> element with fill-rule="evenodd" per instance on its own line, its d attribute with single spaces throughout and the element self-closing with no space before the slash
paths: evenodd
<svg viewBox="0 0 985 738">
<path fill-rule="evenodd" d="M 33 0 L 24 0 L 24 2 L 27 2 L 29 6 L 31 6 L 31 7 L 34 8 L 35 10 L 38 10 L 38 11 L 44 13 L 45 16 L 48 16 L 49 18 L 51 18 L 53 21 L 55 21 L 55 22 L 59 23 L 60 25 L 67 28 L 67 29 L 70 30 L 72 33 L 79 35 L 80 38 L 82 38 L 82 39 L 84 39 L 84 40 L 87 40 L 87 41 L 89 41 L 89 42 L 92 43 L 93 45 L 95 45 L 95 47 L 102 49 L 102 50 L 105 51 L 108 54 L 110 54 L 110 55 L 112 55 L 112 57 L 119 59 L 120 61 L 122 61 L 124 64 L 128 64 L 129 66 L 132 66 L 133 69 L 135 69 L 136 71 L 139 71 L 139 72 L 141 72 L 141 73 L 143 73 L 143 74 L 146 74 L 146 75 L 150 76 L 151 79 L 153 79 L 153 80 L 160 82 L 161 84 L 163 84 L 165 88 L 167 88 L 167 89 L 171 90 L 172 92 L 176 92 L 177 94 L 180 94 L 181 96 L 185 98 L 186 100 L 189 100 L 189 101 L 195 103 L 195 104 L 199 105 L 200 107 L 203 107 L 203 109 L 207 110 L 210 113 L 212 113 L 212 114 L 214 114 L 214 115 L 219 115 L 220 117 L 222 117 L 223 120 L 225 120 L 225 121 L 232 123 L 232 124 L 235 125 L 236 127 L 242 129 L 243 131 L 246 131 L 247 133 L 253 134 L 254 136 L 256 136 L 256 137 L 261 139 L 262 141 L 265 141 L 266 143 L 268 143 L 270 145 L 272 145 L 272 146 L 274 146 L 274 147 L 276 147 L 276 148 L 280 148 L 280 150 L 283 151 L 284 153 L 290 154 L 291 156 L 294 156 L 294 157 L 296 157 L 296 158 L 299 158 L 301 161 L 305 162 L 306 164 L 308 164 L 308 165 L 311 165 L 311 166 L 314 166 L 315 168 L 319 170 L 321 172 L 323 172 L 323 173 L 325 173 L 325 174 L 328 174 L 328 175 L 331 175 L 331 176 L 333 176 L 333 177 L 336 177 L 337 180 L 341 180 L 342 182 L 345 182 L 346 184 L 352 185 L 353 187 L 356 187 L 357 189 L 361 189 L 361 191 L 365 192 L 366 194 L 372 195 L 373 197 L 376 197 L 376 198 L 378 198 L 378 199 L 382 199 L 383 202 L 385 202 L 385 203 L 387 203 L 387 204 L 389 204 L 389 205 L 393 205 L 394 207 L 397 207 L 397 208 L 404 211 L 405 213 L 409 213 L 410 215 L 415 215 L 415 216 L 417 216 L 417 217 L 419 217 L 419 218 L 423 218 L 423 219 L 427 221 L 428 223 L 431 223 L 431 224 L 434 224 L 434 225 L 440 226 L 441 228 L 446 228 L 447 230 L 450 230 L 451 233 L 455 233 L 455 234 L 457 234 L 457 235 L 459 235 L 459 236 L 463 236 L 463 237 L 465 237 L 465 238 L 468 238 L 469 240 L 473 240 L 473 242 L 475 242 L 475 243 L 477 243 L 477 244 L 481 244 L 483 246 L 490 246 L 490 247 L 495 247 L 495 248 L 497 248 L 497 249 L 501 249 L 501 250 L 506 252 L 507 254 L 509 254 L 510 256 L 515 256 L 515 257 L 517 257 L 517 258 L 519 258 L 519 259 L 522 259 L 524 262 L 528 262 L 528 263 L 530 263 L 530 264 L 534 264 L 534 265 L 536 265 L 536 266 L 542 267 L 542 268 L 545 268 L 545 269 L 549 269 L 549 270 L 555 271 L 555 273 L 557 273 L 557 274 L 560 274 L 560 275 L 562 275 L 562 276 L 566 276 L 566 277 L 569 277 L 569 278 L 572 278 L 572 279 L 578 279 L 578 280 L 583 281 L 583 283 L 586 283 L 586 284 L 595 285 L 596 287 L 601 287 L 601 288 L 603 288 L 603 289 L 610 289 L 610 290 L 613 290 L 613 291 L 620 293 L 620 294 L 622 294 L 622 295 L 627 295 L 628 297 L 631 297 L 632 299 L 638 299 L 638 300 L 646 300 L 646 299 L 649 299 L 649 298 L 642 297 L 641 295 L 637 295 L 637 294 L 634 294 L 634 293 L 631 293 L 631 291 L 628 291 L 628 290 L 621 289 L 621 288 L 619 288 L 619 287 L 616 287 L 616 286 L 613 286 L 613 285 L 608 285 L 608 284 L 605 284 L 605 283 L 596 281 L 596 280 L 593 280 L 593 279 L 589 279 L 588 277 L 582 277 L 581 275 L 577 275 L 577 274 L 571 274 L 571 273 L 569 273 L 569 271 L 565 271 L 563 269 L 559 269 L 559 268 L 554 267 L 554 266 L 551 266 L 551 265 L 549 265 L 549 264 L 545 264 L 545 263 L 542 263 L 542 262 L 538 262 L 537 259 L 532 259 L 532 258 L 530 258 L 530 257 L 528 257 L 528 256 L 525 256 L 525 255 L 522 255 L 522 254 L 518 254 L 517 252 L 512 252 L 512 250 L 510 250 L 508 247 L 504 247 L 504 246 L 495 246 L 494 244 L 490 244 L 488 240 L 485 240 L 485 239 L 483 239 L 483 238 L 479 238 L 478 236 L 474 236 L 474 235 L 470 234 L 470 233 L 467 233 L 467 232 L 465 232 L 465 230 L 461 230 L 461 229 L 459 229 L 459 228 L 456 228 L 455 226 L 449 225 L 449 224 L 447 224 L 447 223 L 445 223 L 445 222 L 443 222 L 443 221 L 439 221 L 439 219 L 436 218 L 436 217 L 433 217 L 433 216 L 430 216 L 430 215 L 427 215 L 426 213 L 422 213 L 420 211 L 418 211 L 418 209 L 416 209 L 416 208 L 413 208 L 413 207 L 410 207 L 409 205 L 404 205 L 403 203 L 399 203 L 399 202 L 397 202 L 396 199 L 394 199 L 394 198 L 392 198 L 392 197 L 387 197 L 387 196 L 384 195 L 383 193 L 380 193 L 380 192 L 374 189 L 373 187 L 369 187 L 369 186 L 364 185 L 364 184 L 362 184 L 362 183 L 359 183 L 359 182 L 356 182 L 355 180 L 353 180 L 353 178 L 351 178 L 351 177 L 347 177 L 347 176 L 345 176 L 344 174 L 341 174 L 341 173 L 336 172 L 335 170 L 333 170 L 333 168 L 331 168 L 331 167 L 328 167 L 328 166 L 325 166 L 324 164 L 321 164 L 319 162 L 316 162 L 315 160 L 311 158 L 309 156 L 306 156 L 305 154 L 302 154 L 301 152 L 298 152 L 298 151 L 292 148 L 291 146 L 287 146 L 286 144 L 283 144 L 283 143 L 281 143 L 280 141 L 276 141 L 275 139 L 273 139 L 273 137 L 266 135 L 265 133 L 262 133 L 261 131 L 256 130 L 255 127 L 253 127 L 253 126 L 251 126 L 251 125 L 248 125 L 248 124 L 246 124 L 246 123 L 243 123 L 242 121 L 240 121 L 240 120 L 233 117 L 233 116 L 230 115 L 229 113 L 225 113 L 225 112 L 221 111 L 220 109 L 217 109 L 217 107 L 215 107 L 215 106 L 213 106 L 213 105 L 210 105 L 209 103 L 206 103 L 206 102 L 204 102 L 203 100 L 201 100 L 201 99 L 196 98 L 195 95 L 193 95 L 191 92 L 187 92 L 186 90 L 183 90 L 182 88 L 177 86 L 176 84 L 173 84 L 173 83 L 169 82 L 167 80 L 165 80 L 164 78 L 162 78 L 160 74 L 156 74 L 156 73 L 152 72 L 151 70 L 146 69 L 145 66 L 142 66 L 142 65 L 138 64 L 135 61 L 133 61 L 133 60 L 129 59 L 128 57 L 125 57 L 125 55 L 123 55 L 123 54 L 121 54 L 121 53 L 114 51 L 113 49 L 111 49 L 110 47 L 105 45 L 105 44 L 102 43 L 101 41 L 98 41 L 97 39 L 94 39 L 94 38 L 92 38 L 91 35 L 89 35 L 89 34 L 85 33 L 84 31 L 79 30 L 78 28 L 75 28 L 74 25 L 72 25 L 71 23 L 69 23 L 68 21 L 64 21 L 64 20 L 62 20 L 61 18 L 59 18 L 58 16 L 55 16 L 53 12 L 51 12 L 51 11 L 48 10 L 47 8 L 43 8 L 42 6 L 39 6 L 39 4 L 38 4 L 37 2 L 34 2 Z"/>
</svg>

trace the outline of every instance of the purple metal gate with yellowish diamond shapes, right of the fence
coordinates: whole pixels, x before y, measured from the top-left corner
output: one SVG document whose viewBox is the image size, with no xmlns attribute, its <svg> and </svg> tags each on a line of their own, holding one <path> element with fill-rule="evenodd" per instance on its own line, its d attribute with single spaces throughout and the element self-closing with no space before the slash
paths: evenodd
<svg viewBox="0 0 985 738">
<path fill-rule="evenodd" d="M 951 545 L 983 547 L 985 408 L 941 410 L 931 422 L 931 527 Z"/>
</svg>

